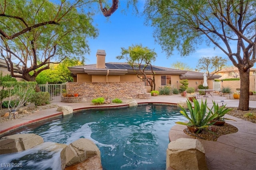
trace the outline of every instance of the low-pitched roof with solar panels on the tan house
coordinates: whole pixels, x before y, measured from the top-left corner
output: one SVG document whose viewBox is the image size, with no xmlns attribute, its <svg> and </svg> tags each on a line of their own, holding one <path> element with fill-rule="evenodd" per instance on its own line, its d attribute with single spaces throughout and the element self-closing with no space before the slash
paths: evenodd
<svg viewBox="0 0 256 170">
<path fill-rule="evenodd" d="M 88 64 L 81 66 L 72 66 L 68 69 L 76 76 L 77 73 L 87 73 L 87 74 L 99 74 L 99 75 L 124 75 L 127 73 L 134 74 L 132 67 L 128 63 L 106 63 L 105 68 L 97 68 L 96 64 Z M 204 73 L 194 72 L 187 70 L 177 70 L 173 68 L 166 68 L 160 66 L 153 66 L 152 69 L 155 74 L 168 74 L 168 75 L 180 75 L 181 79 L 202 79 Z M 148 67 L 145 70 L 146 74 L 151 73 L 151 68 Z M 220 78 L 221 76 L 214 75 L 211 79 Z"/>
</svg>

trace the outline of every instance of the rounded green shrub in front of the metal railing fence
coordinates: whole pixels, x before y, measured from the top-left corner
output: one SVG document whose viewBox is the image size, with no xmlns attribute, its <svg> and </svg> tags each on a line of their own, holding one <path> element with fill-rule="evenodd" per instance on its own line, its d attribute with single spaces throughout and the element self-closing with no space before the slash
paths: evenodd
<svg viewBox="0 0 256 170">
<path fill-rule="evenodd" d="M 34 103 L 35 106 L 44 106 L 50 104 L 50 94 L 48 92 L 37 92 L 34 93 L 30 102 Z"/>
</svg>

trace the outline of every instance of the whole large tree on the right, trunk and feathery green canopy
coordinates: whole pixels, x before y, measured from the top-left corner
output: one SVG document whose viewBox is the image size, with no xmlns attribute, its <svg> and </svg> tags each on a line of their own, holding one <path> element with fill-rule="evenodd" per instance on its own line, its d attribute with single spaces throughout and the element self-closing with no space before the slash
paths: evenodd
<svg viewBox="0 0 256 170">
<path fill-rule="evenodd" d="M 168 56 L 174 49 L 188 56 L 202 44 L 220 49 L 240 72 L 238 109 L 248 110 L 249 72 L 256 62 L 255 6 L 255 0 L 147 0 L 144 13 Z"/>
</svg>

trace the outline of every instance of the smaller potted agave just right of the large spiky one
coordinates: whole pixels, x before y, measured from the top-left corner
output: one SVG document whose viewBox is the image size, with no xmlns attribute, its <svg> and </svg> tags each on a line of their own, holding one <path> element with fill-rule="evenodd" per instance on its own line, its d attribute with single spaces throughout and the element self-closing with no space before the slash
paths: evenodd
<svg viewBox="0 0 256 170">
<path fill-rule="evenodd" d="M 210 109 L 211 114 L 217 114 L 218 116 L 212 120 L 211 122 L 215 122 L 213 125 L 217 126 L 222 126 L 225 124 L 225 119 L 227 120 L 228 118 L 224 118 L 224 115 L 228 113 L 232 108 L 225 108 L 226 104 L 224 106 L 219 107 L 218 104 L 216 104 L 214 101 L 212 101 L 213 106 Z M 213 109 L 213 112 L 212 112 Z M 233 120 L 233 119 L 228 119 L 228 120 Z"/>
</svg>

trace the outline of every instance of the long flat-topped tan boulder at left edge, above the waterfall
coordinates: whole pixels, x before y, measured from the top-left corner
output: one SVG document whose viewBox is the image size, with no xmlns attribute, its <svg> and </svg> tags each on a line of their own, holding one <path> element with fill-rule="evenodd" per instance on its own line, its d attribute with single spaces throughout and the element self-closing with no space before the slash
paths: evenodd
<svg viewBox="0 0 256 170">
<path fill-rule="evenodd" d="M 0 154 L 20 152 L 43 142 L 44 139 L 42 137 L 33 133 L 2 137 L 0 139 Z"/>
</svg>

